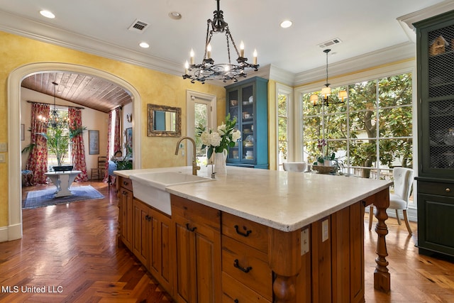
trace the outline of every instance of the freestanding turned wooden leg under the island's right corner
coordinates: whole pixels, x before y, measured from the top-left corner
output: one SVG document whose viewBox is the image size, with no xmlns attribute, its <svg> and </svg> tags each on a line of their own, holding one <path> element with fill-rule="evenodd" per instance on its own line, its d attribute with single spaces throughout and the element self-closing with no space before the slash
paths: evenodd
<svg viewBox="0 0 454 303">
<path fill-rule="evenodd" d="M 378 220 L 377 225 L 375 226 L 375 232 L 378 235 L 376 250 L 378 257 L 375 259 L 377 266 L 375 267 L 374 272 L 374 288 L 382 292 L 389 292 L 389 290 L 391 290 L 391 277 L 387 268 L 389 263 L 386 260 L 388 252 L 385 238 L 388 234 L 388 228 L 384 223 L 384 221 L 388 219 L 386 209 L 389 206 L 389 189 L 377 194 L 374 205 L 377 209 L 375 211 L 375 217 Z"/>
</svg>

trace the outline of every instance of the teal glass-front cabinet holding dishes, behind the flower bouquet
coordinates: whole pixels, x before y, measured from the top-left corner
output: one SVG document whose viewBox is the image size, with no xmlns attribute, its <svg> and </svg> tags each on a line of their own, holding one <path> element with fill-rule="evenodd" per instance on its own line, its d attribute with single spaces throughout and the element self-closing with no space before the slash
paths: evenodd
<svg viewBox="0 0 454 303">
<path fill-rule="evenodd" d="M 268 169 L 268 80 L 252 77 L 226 87 L 226 112 L 237 118 L 241 138 L 228 149 L 227 165 Z"/>
</svg>

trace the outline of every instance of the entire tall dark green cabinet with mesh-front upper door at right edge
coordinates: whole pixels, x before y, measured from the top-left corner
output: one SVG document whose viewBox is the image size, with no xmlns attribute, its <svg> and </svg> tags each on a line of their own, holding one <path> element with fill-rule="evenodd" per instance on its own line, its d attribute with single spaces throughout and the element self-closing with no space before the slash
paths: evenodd
<svg viewBox="0 0 454 303">
<path fill-rule="evenodd" d="M 414 26 L 419 253 L 454 255 L 454 11 Z"/>
</svg>

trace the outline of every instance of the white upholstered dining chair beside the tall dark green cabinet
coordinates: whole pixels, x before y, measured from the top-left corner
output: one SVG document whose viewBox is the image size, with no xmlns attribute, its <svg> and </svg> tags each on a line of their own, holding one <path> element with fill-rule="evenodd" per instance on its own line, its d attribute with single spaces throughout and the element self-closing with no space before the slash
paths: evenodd
<svg viewBox="0 0 454 303">
<path fill-rule="evenodd" d="M 389 194 L 389 207 L 388 209 L 394 209 L 396 211 L 397 223 L 401 225 L 399 217 L 399 209 L 402 209 L 404 214 L 404 221 L 406 229 L 409 234 L 413 234 L 409 224 L 409 218 L 406 214 L 406 210 L 409 208 L 409 199 L 411 194 L 411 186 L 413 185 L 414 170 L 406 167 L 394 167 L 392 171 L 394 177 L 394 194 Z M 372 228 L 372 220 L 374 218 L 374 206 L 370 205 L 369 208 L 369 230 Z"/>
</svg>

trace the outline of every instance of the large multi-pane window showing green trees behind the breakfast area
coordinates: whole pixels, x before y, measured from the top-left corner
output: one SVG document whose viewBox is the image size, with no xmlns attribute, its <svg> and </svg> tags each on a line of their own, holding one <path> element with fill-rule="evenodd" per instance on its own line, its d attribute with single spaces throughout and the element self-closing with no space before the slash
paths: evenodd
<svg viewBox="0 0 454 303">
<path fill-rule="evenodd" d="M 334 87 L 348 91 L 343 104 L 312 106 L 311 92 L 302 94 L 303 157 L 312 163 L 336 153 L 341 172 L 390 179 L 392 167 L 413 166 L 411 73 Z M 326 146 L 319 150 L 319 139 Z"/>
</svg>

